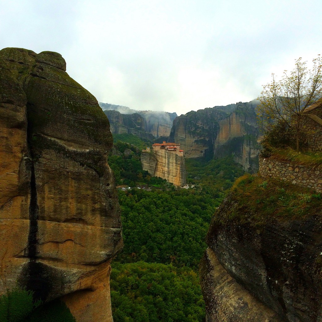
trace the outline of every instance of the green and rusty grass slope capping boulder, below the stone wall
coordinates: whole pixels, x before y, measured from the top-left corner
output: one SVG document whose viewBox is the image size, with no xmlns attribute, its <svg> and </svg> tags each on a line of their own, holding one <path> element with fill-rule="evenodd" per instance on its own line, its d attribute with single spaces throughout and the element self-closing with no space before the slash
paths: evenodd
<svg viewBox="0 0 322 322">
<path fill-rule="evenodd" d="M 250 223 L 261 226 L 272 221 L 285 222 L 322 214 L 322 195 L 315 190 L 246 174 L 238 178 L 223 211 L 213 220 L 226 225 Z"/>
</svg>

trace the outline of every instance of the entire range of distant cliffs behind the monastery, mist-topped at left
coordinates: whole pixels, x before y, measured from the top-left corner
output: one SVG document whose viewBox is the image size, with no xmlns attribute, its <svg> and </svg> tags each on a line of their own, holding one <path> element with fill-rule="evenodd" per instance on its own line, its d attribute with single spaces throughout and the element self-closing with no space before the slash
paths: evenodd
<svg viewBox="0 0 322 322">
<path fill-rule="evenodd" d="M 200 109 L 180 116 L 161 111 L 131 113 L 134 110 L 125 106 L 99 104 L 103 109 L 115 109 L 104 111 L 112 133 L 132 133 L 149 140 L 156 138 L 156 142 L 161 139 L 179 143 L 186 158 L 233 155 L 245 171 L 258 170 L 257 100 Z M 130 114 L 121 114 L 121 110 Z"/>
</svg>

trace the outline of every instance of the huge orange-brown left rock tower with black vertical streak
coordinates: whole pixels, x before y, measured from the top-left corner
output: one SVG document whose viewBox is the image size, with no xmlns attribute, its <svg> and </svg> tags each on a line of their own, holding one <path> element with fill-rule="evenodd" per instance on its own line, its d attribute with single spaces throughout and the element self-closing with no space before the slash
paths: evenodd
<svg viewBox="0 0 322 322">
<path fill-rule="evenodd" d="M 0 294 L 62 298 L 76 321 L 112 321 L 122 248 L 109 121 L 56 52 L 0 51 Z"/>
</svg>

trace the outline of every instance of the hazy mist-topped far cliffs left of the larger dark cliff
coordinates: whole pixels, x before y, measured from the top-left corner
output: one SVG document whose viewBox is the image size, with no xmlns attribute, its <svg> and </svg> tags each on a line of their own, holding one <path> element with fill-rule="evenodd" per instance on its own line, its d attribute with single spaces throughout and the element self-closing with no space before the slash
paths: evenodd
<svg viewBox="0 0 322 322">
<path fill-rule="evenodd" d="M 136 111 L 125 106 L 99 103 L 109 118 L 113 134 L 131 133 L 153 140 L 168 137 L 176 113 L 162 111 Z"/>
</svg>

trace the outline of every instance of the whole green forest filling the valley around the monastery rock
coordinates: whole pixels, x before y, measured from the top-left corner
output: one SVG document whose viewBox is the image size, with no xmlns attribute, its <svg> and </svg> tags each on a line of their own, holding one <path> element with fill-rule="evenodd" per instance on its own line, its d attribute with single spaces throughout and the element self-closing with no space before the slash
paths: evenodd
<svg viewBox="0 0 322 322">
<path fill-rule="evenodd" d="M 118 192 L 124 248 L 112 262 L 114 321 L 204 321 L 198 265 L 205 236 L 216 208 L 244 172 L 232 157 L 185 159 L 187 181 L 195 188 L 176 189 L 142 171 L 137 139 L 116 141 L 109 156 L 117 184 L 156 188 Z M 131 153 L 124 154 L 126 149 Z"/>
</svg>

